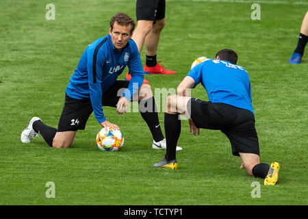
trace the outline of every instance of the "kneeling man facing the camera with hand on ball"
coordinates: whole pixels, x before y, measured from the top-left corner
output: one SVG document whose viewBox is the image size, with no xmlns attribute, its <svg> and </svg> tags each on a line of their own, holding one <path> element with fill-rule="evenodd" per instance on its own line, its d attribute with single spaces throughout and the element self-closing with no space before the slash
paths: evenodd
<svg viewBox="0 0 308 219">
<path fill-rule="evenodd" d="M 49 146 L 68 148 L 77 130 L 85 129 L 92 112 L 102 127 L 119 129 L 105 118 L 103 106 L 116 107 L 118 114 L 125 114 L 134 99 L 145 108 L 140 108 L 140 114 L 151 130 L 153 149 L 166 149 L 151 86 L 142 84 L 140 55 L 131 40 L 134 28 L 135 23 L 127 14 L 112 17 L 109 34 L 88 45 L 70 77 L 58 128 L 44 125 L 40 118 L 34 117 L 21 134 L 21 142 L 29 143 L 40 133 Z M 117 81 L 125 66 L 129 67 L 131 81 Z"/>
</svg>

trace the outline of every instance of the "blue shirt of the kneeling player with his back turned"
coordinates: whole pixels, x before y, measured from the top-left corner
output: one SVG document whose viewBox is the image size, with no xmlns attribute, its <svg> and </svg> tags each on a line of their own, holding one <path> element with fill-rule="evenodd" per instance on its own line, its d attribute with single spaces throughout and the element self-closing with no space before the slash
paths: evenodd
<svg viewBox="0 0 308 219">
<path fill-rule="evenodd" d="M 251 111 L 251 81 L 247 71 L 223 60 L 207 60 L 196 65 L 187 76 L 201 82 L 211 103 L 226 103 Z M 195 85 L 195 86 L 196 86 Z"/>
</svg>

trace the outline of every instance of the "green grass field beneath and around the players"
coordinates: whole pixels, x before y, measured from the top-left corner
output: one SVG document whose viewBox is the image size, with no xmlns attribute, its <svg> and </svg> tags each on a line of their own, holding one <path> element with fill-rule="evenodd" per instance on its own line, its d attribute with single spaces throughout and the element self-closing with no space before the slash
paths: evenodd
<svg viewBox="0 0 308 219">
<path fill-rule="evenodd" d="M 54 21 L 45 18 L 47 3 L 55 4 Z M 164 151 L 151 148 L 140 114 L 119 116 L 110 107 L 104 107 L 107 120 L 125 135 L 118 153 L 97 148 L 100 125 L 93 114 L 71 149 L 53 149 L 42 138 L 22 144 L 21 131 L 32 116 L 57 127 L 84 49 L 108 33 L 116 13 L 136 21 L 136 1 L 0 1 L 0 205 L 307 205 L 308 54 L 300 65 L 287 60 L 308 1 L 259 1 L 261 20 L 255 21 L 253 3 L 258 1 L 167 1 L 157 57 L 177 74 L 146 79 L 153 92 L 176 88 L 196 57 L 234 49 L 251 78 L 261 162 L 281 164 L 274 186 L 239 169 L 240 158 L 231 155 L 220 131 L 203 129 L 193 136 L 186 120 L 179 169 L 154 169 Z M 144 64 L 144 51 L 141 57 Z M 207 100 L 201 85 L 192 96 Z M 164 112 L 159 120 L 164 129 Z M 55 198 L 45 196 L 49 181 L 55 183 Z M 255 181 L 260 198 L 251 196 Z"/>
</svg>

